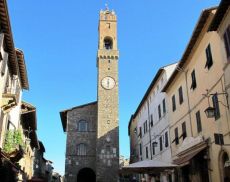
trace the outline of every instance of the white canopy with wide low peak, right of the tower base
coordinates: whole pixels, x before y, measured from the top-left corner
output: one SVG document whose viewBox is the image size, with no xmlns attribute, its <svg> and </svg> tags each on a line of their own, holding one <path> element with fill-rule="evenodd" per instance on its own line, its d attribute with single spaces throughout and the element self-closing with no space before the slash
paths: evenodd
<svg viewBox="0 0 230 182">
<path fill-rule="evenodd" d="M 170 170 L 176 168 L 177 165 L 159 161 L 156 159 L 153 160 L 144 160 L 130 164 L 129 166 L 124 166 L 121 169 L 122 173 L 145 173 L 145 174 L 154 174 L 163 172 L 165 170 Z"/>
</svg>

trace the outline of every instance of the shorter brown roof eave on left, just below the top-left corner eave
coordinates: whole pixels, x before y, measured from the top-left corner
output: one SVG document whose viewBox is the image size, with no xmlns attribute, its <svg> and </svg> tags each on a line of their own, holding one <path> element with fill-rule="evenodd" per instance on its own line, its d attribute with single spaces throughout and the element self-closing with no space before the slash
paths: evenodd
<svg viewBox="0 0 230 182">
<path fill-rule="evenodd" d="M 27 70 L 26 70 L 26 64 L 24 60 L 24 53 L 20 49 L 16 49 L 16 54 L 17 54 L 17 60 L 18 60 L 18 65 L 19 65 L 19 72 L 20 72 L 20 80 L 21 80 L 21 85 L 23 89 L 28 90 L 29 89 L 29 81 L 27 77 Z"/>
</svg>

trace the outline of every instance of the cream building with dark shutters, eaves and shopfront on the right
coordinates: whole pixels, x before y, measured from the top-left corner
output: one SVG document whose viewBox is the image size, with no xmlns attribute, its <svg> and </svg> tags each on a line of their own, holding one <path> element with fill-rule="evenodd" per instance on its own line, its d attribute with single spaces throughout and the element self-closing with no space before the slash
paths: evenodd
<svg viewBox="0 0 230 182">
<path fill-rule="evenodd" d="M 171 150 L 179 166 L 179 181 L 229 179 L 229 147 L 224 145 L 230 143 L 224 49 L 218 33 L 209 31 L 222 8 L 220 4 L 201 13 L 178 69 L 163 89 L 171 107 Z M 210 110 L 212 116 L 206 115 Z"/>
</svg>

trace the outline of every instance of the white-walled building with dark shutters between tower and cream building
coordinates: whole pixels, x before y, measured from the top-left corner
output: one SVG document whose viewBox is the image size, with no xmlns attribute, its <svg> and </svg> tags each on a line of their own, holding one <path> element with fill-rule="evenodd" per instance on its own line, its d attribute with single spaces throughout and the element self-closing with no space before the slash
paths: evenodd
<svg viewBox="0 0 230 182">
<path fill-rule="evenodd" d="M 167 83 L 176 63 L 162 67 L 153 78 L 148 90 L 129 122 L 130 163 L 144 160 L 171 163 L 169 142 L 169 108 L 166 94 L 161 90 Z M 144 166 L 143 166 L 144 167 Z M 160 167 L 160 166 L 159 166 Z M 154 170 L 154 169 L 153 169 Z M 148 173 L 146 180 L 173 180 L 173 171 Z M 138 176 L 136 176 L 138 178 Z M 140 178 L 140 177 L 139 177 Z"/>
</svg>

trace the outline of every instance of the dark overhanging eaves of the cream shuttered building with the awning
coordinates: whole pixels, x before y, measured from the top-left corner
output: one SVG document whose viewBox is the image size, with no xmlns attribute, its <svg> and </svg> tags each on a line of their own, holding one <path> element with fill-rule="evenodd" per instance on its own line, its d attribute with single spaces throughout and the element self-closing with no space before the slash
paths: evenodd
<svg viewBox="0 0 230 182">
<path fill-rule="evenodd" d="M 197 40 L 200 36 L 200 33 L 202 31 L 202 29 L 205 26 L 205 23 L 209 17 L 209 15 L 211 14 L 211 12 L 213 10 L 217 9 L 217 7 L 213 7 L 213 8 L 209 8 L 209 9 L 205 9 L 202 11 L 201 16 L 199 18 L 199 21 L 192 33 L 192 37 L 185 49 L 185 52 L 180 60 L 180 62 L 178 63 L 177 67 L 179 69 L 175 69 L 174 72 L 172 73 L 171 77 L 169 78 L 167 84 L 164 86 L 164 88 L 162 89 L 163 92 L 167 91 L 168 87 L 172 84 L 172 82 L 174 81 L 175 77 L 177 76 L 177 74 L 180 72 L 180 69 L 183 69 L 183 66 L 185 65 L 185 63 L 188 61 L 188 57 L 191 54 L 195 44 L 197 43 Z"/>
</svg>

